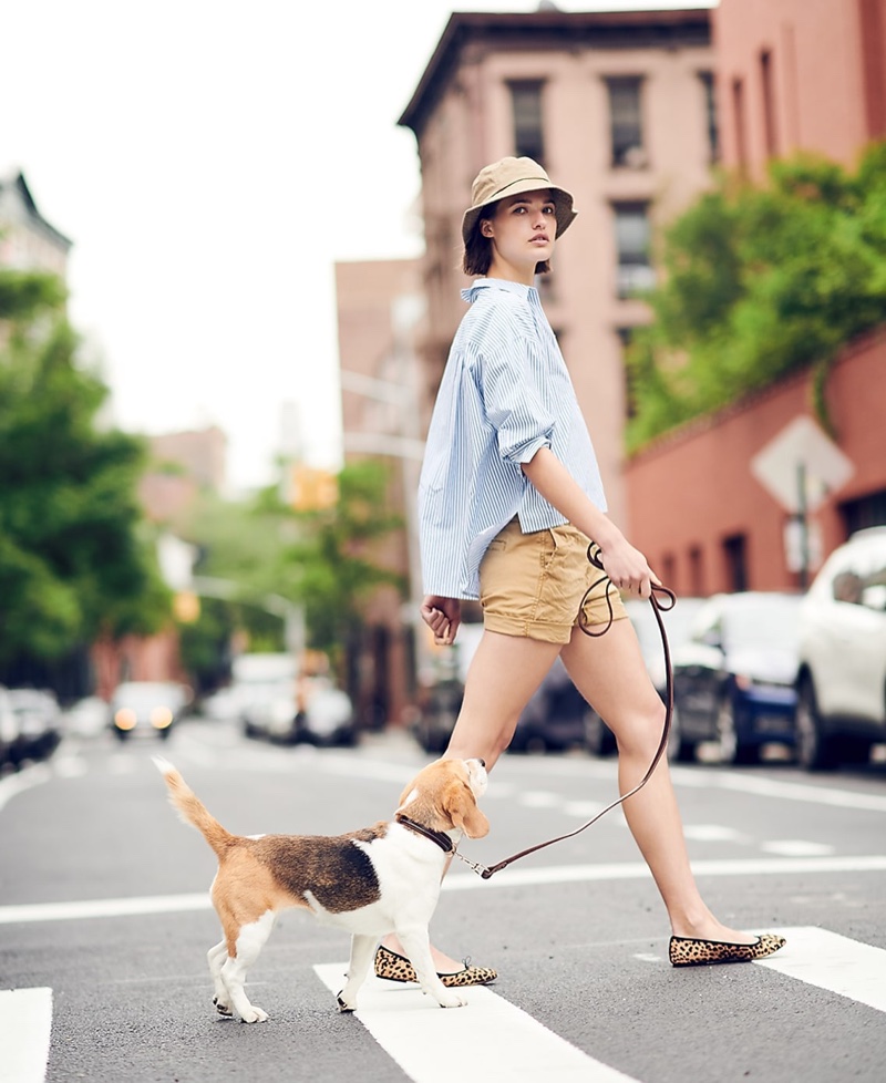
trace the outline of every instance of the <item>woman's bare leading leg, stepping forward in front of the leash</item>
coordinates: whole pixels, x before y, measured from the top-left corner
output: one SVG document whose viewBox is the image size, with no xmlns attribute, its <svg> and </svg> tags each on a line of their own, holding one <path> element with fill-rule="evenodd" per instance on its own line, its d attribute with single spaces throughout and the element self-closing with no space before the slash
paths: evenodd
<svg viewBox="0 0 886 1083">
<path fill-rule="evenodd" d="M 598 638 L 576 628 L 560 657 L 579 692 L 616 736 L 619 792 L 627 793 L 648 771 L 664 723 L 664 705 L 649 680 L 633 626 L 617 620 Z M 674 935 L 753 942 L 755 937 L 723 926 L 699 893 L 666 756 L 643 788 L 621 807 Z"/>
</svg>

